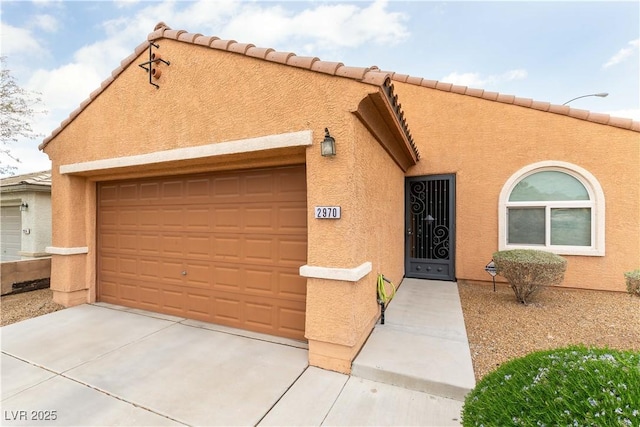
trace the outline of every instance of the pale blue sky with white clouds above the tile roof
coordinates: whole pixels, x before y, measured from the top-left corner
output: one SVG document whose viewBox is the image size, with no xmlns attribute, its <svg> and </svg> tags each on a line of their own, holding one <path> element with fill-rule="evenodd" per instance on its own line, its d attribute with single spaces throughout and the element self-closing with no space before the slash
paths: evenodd
<svg viewBox="0 0 640 427">
<path fill-rule="evenodd" d="M 47 136 L 159 21 L 173 29 L 640 120 L 640 2 L 5 1 L 0 51 Z M 16 173 L 50 167 L 20 141 Z M 4 161 L 4 159 L 3 159 Z"/>
</svg>

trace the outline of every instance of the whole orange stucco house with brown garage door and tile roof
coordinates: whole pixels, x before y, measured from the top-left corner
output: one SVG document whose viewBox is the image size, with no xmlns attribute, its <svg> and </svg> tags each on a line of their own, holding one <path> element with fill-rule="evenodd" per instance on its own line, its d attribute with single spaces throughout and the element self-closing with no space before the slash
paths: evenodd
<svg viewBox="0 0 640 427">
<path fill-rule="evenodd" d="M 640 123 L 163 23 L 40 148 L 56 302 L 306 340 L 340 372 L 379 274 L 482 282 L 534 247 L 623 291 L 640 264 Z"/>
</svg>

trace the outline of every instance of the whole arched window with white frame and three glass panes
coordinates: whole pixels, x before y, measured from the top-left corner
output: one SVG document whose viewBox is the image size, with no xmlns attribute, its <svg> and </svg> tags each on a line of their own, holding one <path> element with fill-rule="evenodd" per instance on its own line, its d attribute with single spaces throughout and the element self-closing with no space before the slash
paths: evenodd
<svg viewBox="0 0 640 427">
<path fill-rule="evenodd" d="M 529 165 L 500 193 L 499 247 L 604 255 L 604 194 L 596 178 L 566 162 Z"/>
</svg>

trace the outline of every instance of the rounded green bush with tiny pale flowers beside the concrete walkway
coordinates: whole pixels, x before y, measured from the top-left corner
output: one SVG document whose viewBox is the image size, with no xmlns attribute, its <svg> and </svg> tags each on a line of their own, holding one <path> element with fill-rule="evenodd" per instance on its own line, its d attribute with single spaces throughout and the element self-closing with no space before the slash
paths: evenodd
<svg viewBox="0 0 640 427">
<path fill-rule="evenodd" d="M 640 426 L 640 353 L 582 346 L 539 351 L 486 375 L 463 426 Z"/>
</svg>

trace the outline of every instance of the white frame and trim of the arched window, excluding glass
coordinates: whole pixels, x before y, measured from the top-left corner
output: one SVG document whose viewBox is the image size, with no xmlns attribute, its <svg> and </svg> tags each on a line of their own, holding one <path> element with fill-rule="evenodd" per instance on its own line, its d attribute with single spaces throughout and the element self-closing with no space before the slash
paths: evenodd
<svg viewBox="0 0 640 427">
<path fill-rule="evenodd" d="M 541 201 L 541 202 L 510 202 L 509 196 L 515 186 L 524 178 L 538 172 L 558 171 L 566 173 L 576 178 L 589 193 L 589 200 L 575 201 Z M 544 245 L 526 245 L 526 244 L 509 244 L 507 218 L 508 209 L 514 207 L 545 207 L 545 230 Z M 553 208 L 573 208 L 586 207 L 591 209 L 591 246 L 560 246 L 551 245 L 551 222 L 550 211 Z M 581 256 L 604 256 L 605 254 L 605 200 L 604 192 L 600 183 L 589 171 L 580 166 L 561 162 L 561 161 L 544 161 L 533 163 L 523 167 L 507 180 L 502 187 L 499 199 L 498 213 L 498 248 L 499 250 L 508 249 L 540 249 L 553 252 L 558 255 L 581 255 Z"/>
</svg>

